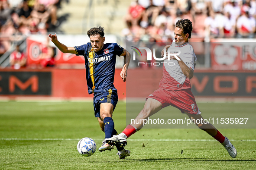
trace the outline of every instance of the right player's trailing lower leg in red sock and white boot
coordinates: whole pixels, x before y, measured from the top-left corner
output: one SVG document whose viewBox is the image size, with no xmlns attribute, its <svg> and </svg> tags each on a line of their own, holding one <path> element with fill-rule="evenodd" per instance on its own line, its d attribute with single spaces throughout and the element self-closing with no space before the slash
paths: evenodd
<svg viewBox="0 0 256 170">
<path fill-rule="evenodd" d="M 186 114 L 198 126 L 199 129 L 204 130 L 209 135 L 211 135 L 214 139 L 220 142 L 221 145 L 223 145 L 224 148 L 227 149 L 227 152 L 231 157 L 233 158 L 237 157 L 237 150 L 231 144 L 231 142 L 227 139 L 227 137 L 223 136 L 211 123 L 204 123 L 204 118 L 201 116 L 201 114 L 191 114 L 191 113 L 186 113 Z M 197 120 L 200 120 L 198 121 L 200 123 L 197 123 Z"/>
</svg>

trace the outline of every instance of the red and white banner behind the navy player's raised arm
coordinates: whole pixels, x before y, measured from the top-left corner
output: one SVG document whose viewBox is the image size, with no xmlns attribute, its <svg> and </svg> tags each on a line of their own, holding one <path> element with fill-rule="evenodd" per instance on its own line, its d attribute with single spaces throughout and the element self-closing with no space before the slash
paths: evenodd
<svg viewBox="0 0 256 170">
<path fill-rule="evenodd" d="M 90 42 L 87 35 L 57 35 L 58 40 L 67 47 L 79 46 Z M 105 35 L 107 42 L 116 42 L 116 36 Z M 64 54 L 50 41 L 47 35 L 30 35 L 26 39 L 26 55 L 28 56 L 27 65 L 31 68 L 38 68 L 40 62 L 45 58 L 48 51 L 53 51 L 54 63 L 56 66 L 64 65 L 68 68 L 73 66 L 84 65 L 84 56 L 76 56 L 75 54 Z M 42 62 L 41 62 L 42 63 Z M 40 68 L 40 67 L 39 67 Z M 83 67 L 76 67 L 83 68 Z"/>
</svg>

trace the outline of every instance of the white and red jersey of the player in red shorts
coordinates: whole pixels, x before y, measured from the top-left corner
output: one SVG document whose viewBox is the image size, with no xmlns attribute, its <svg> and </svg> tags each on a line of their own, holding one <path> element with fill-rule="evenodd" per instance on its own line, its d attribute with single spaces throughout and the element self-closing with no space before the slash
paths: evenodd
<svg viewBox="0 0 256 170">
<path fill-rule="evenodd" d="M 197 60 L 193 47 L 189 44 L 176 45 L 173 41 L 169 47 L 172 50 L 179 50 L 180 59 L 191 69 L 194 70 L 195 61 Z M 165 60 L 167 64 L 163 66 L 163 77 L 159 83 L 159 87 L 166 90 L 181 90 L 191 88 L 189 79 L 181 71 L 181 67 L 177 60 Z M 173 65 L 174 63 L 174 65 Z"/>
</svg>

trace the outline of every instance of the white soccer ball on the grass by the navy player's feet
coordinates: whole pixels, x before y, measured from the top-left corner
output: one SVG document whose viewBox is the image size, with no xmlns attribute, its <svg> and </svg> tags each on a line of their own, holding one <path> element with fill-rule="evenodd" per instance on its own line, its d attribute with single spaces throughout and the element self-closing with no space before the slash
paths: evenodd
<svg viewBox="0 0 256 170">
<path fill-rule="evenodd" d="M 89 157 L 96 151 L 96 143 L 91 138 L 83 138 L 78 142 L 78 152 L 79 154 Z"/>
</svg>

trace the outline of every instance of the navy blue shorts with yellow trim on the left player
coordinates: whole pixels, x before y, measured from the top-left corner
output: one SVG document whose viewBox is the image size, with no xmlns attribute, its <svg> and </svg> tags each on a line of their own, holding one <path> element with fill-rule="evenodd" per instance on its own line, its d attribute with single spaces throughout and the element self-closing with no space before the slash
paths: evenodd
<svg viewBox="0 0 256 170">
<path fill-rule="evenodd" d="M 93 105 L 95 117 L 100 117 L 100 104 L 111 103 L 113 104 L 113 110 L 115 110 L 118 101 L 117 89 L 110 88 L 109 90 L 102 91 L 100 93 L 94 93 Z"/>
</svg>

